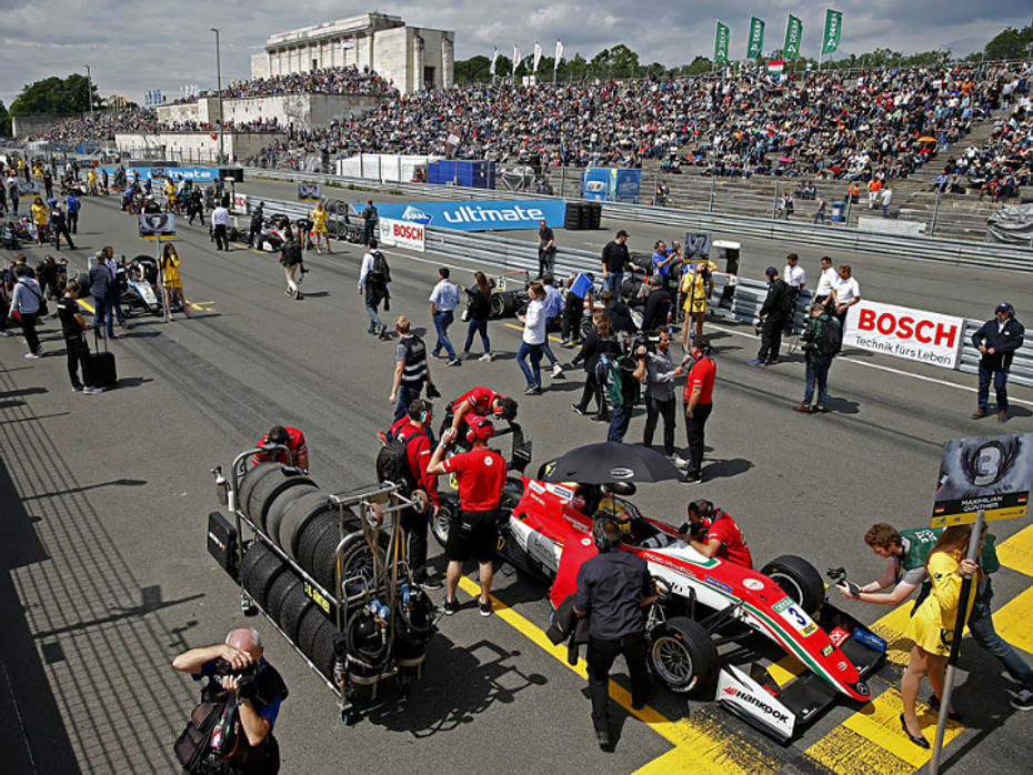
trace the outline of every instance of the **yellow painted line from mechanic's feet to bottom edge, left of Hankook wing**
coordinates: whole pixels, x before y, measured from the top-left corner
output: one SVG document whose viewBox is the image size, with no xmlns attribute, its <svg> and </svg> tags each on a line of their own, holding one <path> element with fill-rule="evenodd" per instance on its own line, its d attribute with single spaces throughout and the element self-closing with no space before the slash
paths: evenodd
<svg viewBox="0 0 1033 775">
<path fill-rule="evenodd" d="M 467 594 L 477 597 L 480 595 L 478 584 L 461 576 L 459 580 L 460 588 Z M 561 664 L 566 665 L 582 678 L 588 678 L 588 668 L 583 658 L 578 661 L 576 665 L 570 665 L 566 662 L 566 646 L 553 645 L 552 641 L 538 626 L 524 616 L 520 615 L 508 605 L 495 597 L 492 597 L 495 616 L 509 624 L 521 635 L 539 646 L 542 651 L 554 656 Z M 642 773 L 661 773 L 661 772 L 693 772 L 701 775 L 732 775 L 733 773 L 755 773 L 764 775 L 775 773 L 781 767 L 770 756 L 755 748 L 750 743 L 733 738 L 726 732 L 720 728 L 709 728 L 706 725 L 694 724 L 688 718 L 671 721 L 653 707 L 646 705 L 641 711 L 631 707 L 631 693 L 623 686 L 610 682 L 610 697 L 628 713 L 646 724 L 661 737 L 666 739 L 675 747 L 658 757 L 650 764 L 646 764 L 639 772 Z M 585 705 L 585 716 L 589 714 L 589 707 Z M 680 766 L 684 762 L 684 767 Z M 660 765 L 659 763 L 664 763 Z M 676 763 L 676 764 L 675 764 Z M 691 767 L 688 768 L 688 767 Z"/>
</svg>

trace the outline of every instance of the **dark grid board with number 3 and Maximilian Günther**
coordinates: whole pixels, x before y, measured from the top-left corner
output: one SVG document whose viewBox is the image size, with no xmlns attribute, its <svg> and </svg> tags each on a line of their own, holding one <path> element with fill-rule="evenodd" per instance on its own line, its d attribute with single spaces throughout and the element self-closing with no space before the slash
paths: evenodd
<svg viewBox="0 0 1033 775">
<path fill-rule="evenodd" d="M 955 439 L 943 445 L 931 527 L 1025 516 L 1033 481 L 1033 433 Z"/>
</svg>

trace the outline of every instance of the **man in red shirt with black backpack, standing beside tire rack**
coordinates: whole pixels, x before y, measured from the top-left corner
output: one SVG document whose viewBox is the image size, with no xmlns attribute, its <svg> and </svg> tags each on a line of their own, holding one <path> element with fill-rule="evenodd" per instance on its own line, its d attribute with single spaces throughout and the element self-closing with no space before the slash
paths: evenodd
<svg viewBox="0 0 1033 775">
<path fill-rule="evenodd" d="M 441 511 L 441 497 L 438 494 L 438 477 L 428 473 L 431 460 L 431 420 L 434 405 L 430 401 L 415 399 L 409 404 L 408 414 L 391 426 L 390 437 L 405 444 L 409 460 L 411 484 L 423 490 L 431 502 L 431 514 Z M 412 580 L 424 590 L 440 590 L 442 584 L 428 576 L 427 568 L 427 515 L 414 509 L 407 509 L 399 517 L 405 535 L 409 537 L 409 565 Z"/>
</svg>

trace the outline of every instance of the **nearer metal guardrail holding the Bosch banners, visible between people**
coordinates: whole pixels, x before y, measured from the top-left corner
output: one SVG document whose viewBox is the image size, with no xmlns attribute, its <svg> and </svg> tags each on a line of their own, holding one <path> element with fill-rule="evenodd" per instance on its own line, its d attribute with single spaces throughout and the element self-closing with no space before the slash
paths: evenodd
<svg viewBox="0 0 1033 775">
<path fill-rule="evenodd" d="M 477 189 L 474 189 L 477 190 Z M 275 199 L 263 199 L 265 212 L 284 213 L 289 218 L 308 218 L 311 209 L 302 202 L 289 202 Z M 333 217 L 331 217 L 332 220 Z M 503 274 L 521 271 L 538 271 L 538 246 L 526 240 L 514 240 L 500 236 L 491 232 L 462 232 L 450 229 L 435 229 L 428 227 L 425 231 L 425 248 L 429 252 L 443 255 L 458 261 L 472 261 L 493 266 Z M 586 250 L 560 248 L 555 255 L 555 274 L 558 278 L 574 272 L 601 271 L 600 258 Z M 730 275 L 718 272 L 714 276 L 714 299 L 721 298 L 721 292 L 728 283 Z M 768 286 L 759 280 L 738 278 L 735 294 L 731 308 L 721 308 L 715 303 L 710 305 L 712 314 L 752 325 L 760 316 L 761 305 L 768 294 Z M 796 310 L 796 330 L 805 321 L 812 294 L 804 291 L 800 295 L 800 305 Z M 961 342 L 961 355 L 954 371 L 975 374 L 979 372 L 980 353 L 972 346 L 972 334 L 983 324 L 983 321 L 965 319 L 964 332 Z M 1033 331 L 1027 330 L 1023 346 L 1015 353 L 1009 380 L 1013 383 L 1033 387 Z"/>
</svg>

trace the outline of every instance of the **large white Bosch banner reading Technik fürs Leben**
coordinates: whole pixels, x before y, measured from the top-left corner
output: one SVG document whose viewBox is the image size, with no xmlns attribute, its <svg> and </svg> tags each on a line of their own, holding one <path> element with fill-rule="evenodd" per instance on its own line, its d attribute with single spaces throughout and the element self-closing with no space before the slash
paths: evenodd
<svg viewBox="0 0 1033 775">
<path fill-rule="evenodd" d="M 843 346 L 953 369 L 963 335 L 961 318 L 862 299 L 846 315 Z"/>
</svg>

